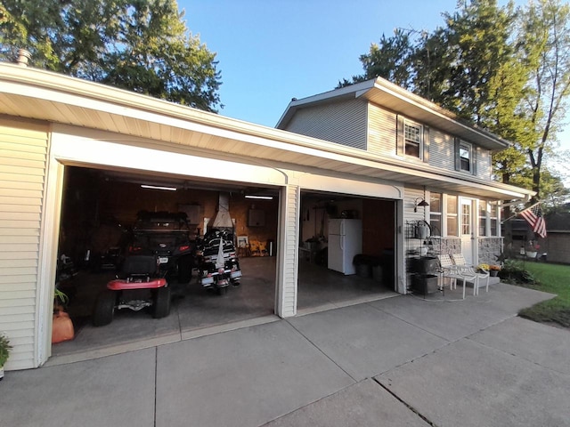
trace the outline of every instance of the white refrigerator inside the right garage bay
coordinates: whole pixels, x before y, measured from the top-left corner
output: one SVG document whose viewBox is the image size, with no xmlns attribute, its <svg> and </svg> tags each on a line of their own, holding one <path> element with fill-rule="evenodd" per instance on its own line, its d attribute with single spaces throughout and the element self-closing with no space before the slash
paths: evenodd
<svg viewBox="0 0 570 427">
<path fill-rule="evenodd" d="M 362 221 L 329 220 L 329 269 L 354 274 L 355 254 L 362 254 Z"/>
</svg>

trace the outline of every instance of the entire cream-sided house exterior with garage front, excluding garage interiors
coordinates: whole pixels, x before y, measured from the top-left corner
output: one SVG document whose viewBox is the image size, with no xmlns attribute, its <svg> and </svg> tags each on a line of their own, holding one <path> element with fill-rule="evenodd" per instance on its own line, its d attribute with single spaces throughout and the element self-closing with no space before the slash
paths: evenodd
<svg viewBox="0 0 570 427">
<path fill-rule="evenodd" d="M 440 230 L 439 251 L 487 261 L 501 248 L 496 204 L 531 196 L 491 181 L 491 153 L 506 141 L 381 79 L 294 101 L 279 127 L 0 64 L 0 331 L 14 345 L 6 368 L 38 367 L 51 355 L 71 167 L 271 189 L 279 197 L 274 312 L 281 318 L 297 313 L 303 195 L 360 197 L 371 211 L 388 206 L 392 286 L 402 294 L 406 256 L 425 244 L 411 233 L 419 221 L 432 235 Z M 422 198 L 430 205 L 418 207 Z M 374 215 L 366 222 L 380 227 Z"/>
</svg>

